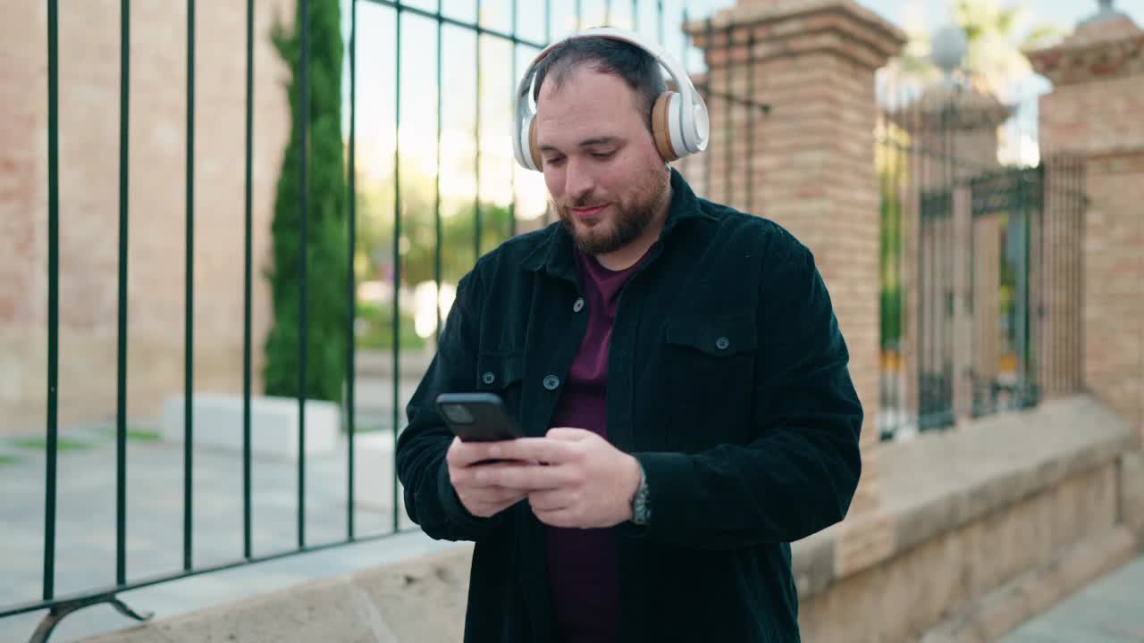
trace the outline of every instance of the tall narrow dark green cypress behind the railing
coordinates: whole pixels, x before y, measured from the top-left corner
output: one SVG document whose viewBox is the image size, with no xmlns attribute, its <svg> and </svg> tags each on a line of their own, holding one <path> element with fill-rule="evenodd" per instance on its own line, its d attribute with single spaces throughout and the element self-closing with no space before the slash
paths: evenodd
<svg viewBox="0 0 1144 643">
<path fill-rule="evenodd" d="M 349 237 L 341 134 L 342 34 L 337 0 L 310 7 L 310 95 L 307 211 L 307 397 L 339 400 L 345 376 L 349 320 Z M 273 267 L 268 270 L 273 326 L 265 343 L 268 395 L 299 395 L 301 279 L 301 82 L 302 22 L 296 9 L 287 32 L 276 22 L 272 40 L 293 70 L 287 86 L 293 128 L 283 159 L 271 223 Z"/>
</svg>

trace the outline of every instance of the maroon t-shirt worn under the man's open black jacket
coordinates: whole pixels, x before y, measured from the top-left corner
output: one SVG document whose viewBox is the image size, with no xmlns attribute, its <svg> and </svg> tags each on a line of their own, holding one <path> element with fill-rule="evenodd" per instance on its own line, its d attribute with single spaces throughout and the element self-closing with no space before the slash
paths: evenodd
<svg viewBox="0 0 1144 643">
<path fill-rule="evenodd" d="M 607 347 L 623 284 L 643 260 L 620 271 L 575 251 L 588 331 L 565 378 L 551 427 L 587 429 L 607 439 Z M 619 608 L 615 541 L 611 529 L 547 527 L 548 571 L 558 640 L 615 640 Z"/>
</svg>

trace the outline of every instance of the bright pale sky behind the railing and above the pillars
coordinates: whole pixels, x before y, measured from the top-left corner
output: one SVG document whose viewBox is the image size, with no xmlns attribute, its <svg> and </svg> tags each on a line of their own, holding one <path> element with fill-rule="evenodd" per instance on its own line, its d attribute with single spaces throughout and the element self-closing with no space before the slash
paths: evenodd
<svg viewBox="0 0 1144 643">
<path fill-rule="evenodd" d="M 471 23 L 475 0 L 439 0 L 442 14 Z M 343 0 L 348 6 L 349 1 Z M 405 0 L 404 3 L 435 11 L 438 0 Z M 1096 13 L 1096 0 L 1000 0 L 1003 6 L 1026 9 L 1025 29 L 1051 24 L 1071 31 L 1079 21 Z M 668 51 L 683 59 L 690 72 L 702 70 L 698 50 L 686 47 L 678 24 L 684 11 L 694 18 L 710 15 L 734 0 L 661 0 L 664 19 L 657 19 L 657 0 L 480 0 L 482 25 L 505 33 L 516 27 L 519 38 L 545 42 L 548 38 L 573 31 L 577 7 L 585 26 L 610 18 L 617 26 L 635 27 L 648 38 L 662 37 Z M 859 0 L 888 21 L 906 29 L 936 29 L 950 21 L 952 0 Z M 1114 8 L 1144 25 L 1144 0 L 1117 0 Z M 551 7 L 546 24 L 546 6 Z M 633 16 L 633 6 L 636 13 Z M 514 25 L 513 8 L 516 7 Z M 609 15 L 610 11 L 610 15 Z M 343 11 L 349 31 L 349 11 Z M 482 38 L 479 51 L 470 29 L 440 27 L 440 84 L 437 82 L 437 21 L 406 11 L 400 24 L 400 46 L 395 30 L 395 10 L 360 1 L 357 3 L 357 162 L 365 180 L 390 181 L 394 167 L 394 140 L 400 132 L 400 173 L 406 182 L 431 181 L 437 167 L 437 103 L 440 90 L 440 188 L 444 199 L 471 203 L 478 188 L 483 200 L 507 204 L 516 196 L 522 217 L 539 215 L 545 208 L 545 188 L 538 173 L 518 169 L 513 159 L 513 90 L 519 73 L 537 49 L 521 45 L 514 50 L 508 41 Z M 399 55 L 398 55 L 399 54 Z M 479 61 L 478 61 L 479 56 Z M 400 93 L 395 93 L 397 63 L 400 62 Z M 348 62 L 347 62 L 348 65 Z M 476 79 L 480 76 L 480 100 Z M 348 93 L 348 82 L 344 90 Z M 1020 95 L 1048 90 L 1048 82 L 1031 77 Z M 397 111 L 399 108 L 399 121 Z M 480 159 L 475 122 L 479 111 Z M 349 110 L 345 110 L 348 119 Z M 1027 117 L 1035 125 L 1035 116 Z M 399 122 L 399 127 L 398 127 Z M 476 181 L 475 169 L 480 180 Z M 447 212 L 444 213 L 446 216 Z"/>
</svg>

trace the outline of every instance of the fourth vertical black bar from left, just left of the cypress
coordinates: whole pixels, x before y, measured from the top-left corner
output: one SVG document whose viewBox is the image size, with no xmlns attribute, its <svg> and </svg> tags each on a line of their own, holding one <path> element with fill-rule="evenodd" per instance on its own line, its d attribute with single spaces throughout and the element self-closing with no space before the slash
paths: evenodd
<svg viewBox="0 0 1144 643">
<path fill-rule="evenodd" d="M 243 557 L 254 555 L 251 524 L 251 297 L 254 212 L 254 0 L 246 0 L 246 193 L 243 212 Z"/>
</svg>

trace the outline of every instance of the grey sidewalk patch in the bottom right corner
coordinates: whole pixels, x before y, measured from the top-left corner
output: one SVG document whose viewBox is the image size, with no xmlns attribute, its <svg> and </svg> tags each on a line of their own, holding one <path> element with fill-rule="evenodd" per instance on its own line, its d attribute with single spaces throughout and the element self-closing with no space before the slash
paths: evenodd
<svg viewBox="0 0 1144 643">
<path fill-rule="evenodd" d="M 1144 643 L 1144 556 L 1026 621 L 1000 643 Z"/>
</svg>

